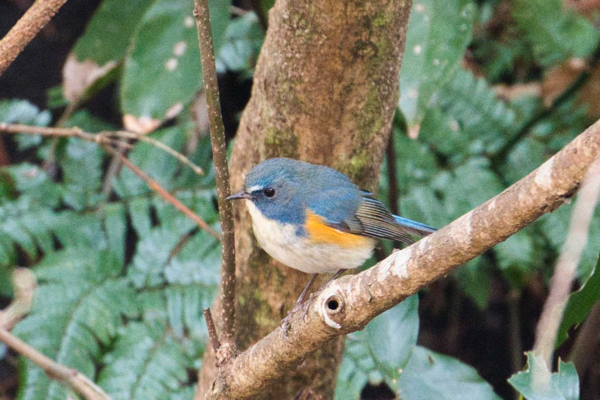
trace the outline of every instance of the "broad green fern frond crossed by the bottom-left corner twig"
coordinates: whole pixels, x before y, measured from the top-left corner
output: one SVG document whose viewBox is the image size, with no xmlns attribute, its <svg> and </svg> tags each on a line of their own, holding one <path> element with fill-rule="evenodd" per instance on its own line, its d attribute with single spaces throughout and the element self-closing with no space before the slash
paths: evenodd
<svg viewBox="0 0 600 400">
<path fill-rule="evenodd" d="M 31 312 L 13 332 L 56 362 L 93 378 L 100 346 L 109 345 L 122 315 L 137 314 L 133 289 L 118 277 L 120 271 L 109 253 L 89 247 L 46 256 L 35 268 L 40 286 Z M 38 366 L 28 360 L 24 365 L 20 400 L 67 397 L 67 389 Z"/>
</svg>

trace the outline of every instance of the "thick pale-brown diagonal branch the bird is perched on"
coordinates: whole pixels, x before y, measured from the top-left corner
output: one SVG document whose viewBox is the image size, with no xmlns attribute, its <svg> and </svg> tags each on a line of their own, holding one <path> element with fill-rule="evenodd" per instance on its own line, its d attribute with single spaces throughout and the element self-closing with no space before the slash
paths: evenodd
<svg viewBox="0 0 600 400">
<path fill-rule="evenodd" d="M 555 210 L 574 195 L 599 154 L 596 121 L 538 169 L 475 210 L 366 271 L 334 280 L 316 295 L 305 317 L 303 312 L 291 315 L 287 339 L 277 328 L 239 354 L 221 370 L 205 398 L 256 395 L 325 342 L 362 329 L 376 315 Z"/>
</svg>

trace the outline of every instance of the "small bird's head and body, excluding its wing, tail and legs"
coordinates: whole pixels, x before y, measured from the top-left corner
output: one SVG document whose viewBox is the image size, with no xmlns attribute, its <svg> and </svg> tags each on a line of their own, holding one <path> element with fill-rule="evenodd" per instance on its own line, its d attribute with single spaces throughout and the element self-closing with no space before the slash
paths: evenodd
<svg viewBox="0 0 600 400">
<path fill-rule="evenodd" d="M 277 158 L 255 166 L 244 190 L 254 235 L 277 261 L 308 273 L 355 268 L 370 256 L 374 240 L 341 226 L 361 202 L 346 175 L 322 165 Z"/>
</svg>

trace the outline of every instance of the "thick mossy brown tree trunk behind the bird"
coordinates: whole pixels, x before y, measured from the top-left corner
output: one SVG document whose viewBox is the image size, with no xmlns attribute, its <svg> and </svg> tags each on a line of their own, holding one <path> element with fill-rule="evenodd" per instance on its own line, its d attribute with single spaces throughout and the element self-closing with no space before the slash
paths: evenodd
<svg viewBox="0 0 600 400">
<path fill-rule="evenodd" d="M 281 156 L 332 166 L 359 186 L 375 189 L 398 102 L 411 4 L 277 0 L 233 148 L 232 190 L 261 160 Z M 234 218 L 236 329 L 245 350 L 278 326 L 310 276 L 260 249 L 243 203 Z M 340 337 L 260 398 L 290 399 L 301 390 L 307 398 L 332 398 L 342 349 Z M 208 351 L 199 384 L 208 389 L 216 377 Z"/>
</svg>

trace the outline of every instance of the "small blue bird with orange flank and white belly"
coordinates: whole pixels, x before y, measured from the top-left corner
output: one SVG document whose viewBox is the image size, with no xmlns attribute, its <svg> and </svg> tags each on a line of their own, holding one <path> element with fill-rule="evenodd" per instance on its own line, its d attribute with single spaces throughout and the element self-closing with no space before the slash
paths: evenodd
<svg viewBox="0 0 600 400">
<path fill-rule="evenodd" d="M 301 308 L 317 274 L 361 266 L 377 239 L 414 243 L 436 231 L 392 214 L 373 193 L 333 168 L 284 157 L 254 166 L 244 187 L 227 200 L 245 200 L 254 236 L 272 258 L 312 274 L 294 308 Z"/>
</svg>

